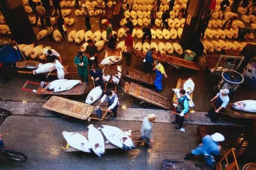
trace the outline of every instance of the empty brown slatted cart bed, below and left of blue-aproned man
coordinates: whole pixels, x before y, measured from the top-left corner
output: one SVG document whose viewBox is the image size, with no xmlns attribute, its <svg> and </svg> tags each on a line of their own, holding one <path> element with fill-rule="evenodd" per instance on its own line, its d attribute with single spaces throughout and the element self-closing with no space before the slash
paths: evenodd
<svg viewBox="0 0 256 170">
<path fill-rule="evenodd" d="M 126 82 L 124 92 L 126 94 L 130 94 L 131 96 L 134 96 L 135 98 L 139 98 L 148 103 L 152 103 L 156 106 L 165 108 L 166 110 L 170 110 L 170 101 L 168 98 L 165 98 L 161 94 L 136 83 Z"/>
</svg>

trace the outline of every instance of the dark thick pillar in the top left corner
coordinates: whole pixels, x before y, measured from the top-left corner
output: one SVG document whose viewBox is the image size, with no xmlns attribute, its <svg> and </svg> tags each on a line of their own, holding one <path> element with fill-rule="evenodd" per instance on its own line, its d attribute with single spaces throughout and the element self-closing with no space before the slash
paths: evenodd
<svg viewBox="0 0 256 170">
<path fill-rule="evenodd" d="M 0 10 L 17 43 L 31 43 L 36 39 L 22 0 L 0 0 Z"/>
</svg>

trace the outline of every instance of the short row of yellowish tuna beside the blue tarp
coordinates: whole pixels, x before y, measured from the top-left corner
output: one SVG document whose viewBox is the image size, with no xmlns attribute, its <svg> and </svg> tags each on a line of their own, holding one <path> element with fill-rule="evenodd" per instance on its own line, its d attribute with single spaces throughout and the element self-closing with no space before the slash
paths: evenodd
<svg viewBox="0 0 256 170">
<path fill-rule="evenodd" d="M 35 44 L 20 44 L 18 45 L 19 49 L 28 57 L 30 56 L 30 59 L 36 59 L 38 57 L 39 60 L 44 60 L 44 51 L 46 49 L 50 49 L 50 46 L 44 47 L 43 45 L 38 45 L 35 47 Z M 17 46 L 14 47 L 17 49 Z"/>
</svg>

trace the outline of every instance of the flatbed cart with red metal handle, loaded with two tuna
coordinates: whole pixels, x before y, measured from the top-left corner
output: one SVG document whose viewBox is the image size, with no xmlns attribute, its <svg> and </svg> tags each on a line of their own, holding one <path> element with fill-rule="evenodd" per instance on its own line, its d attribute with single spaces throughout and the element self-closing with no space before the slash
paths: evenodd
<svg viewBox="0 0 256 170">
<path fill-rule="evenodd" d="M 48 84 L 50 82 L 46 82 L 46 83 Z M 33 91 L 33 89 L 26 89 L 25 88 L 27 84 L 39 85 L 39 87 L 36 90 L 36 94 L 47 94 L 47 95 L 82 95 L 82 94 L 85 94 L 87 92 L 87 89 L 88 89 L 88 86 L 89 86 L 86 83 L 82 82 L 81 84 L 76 85 L 75 87 L 73 87 L 70 90 L 54 93 L 53 90 L 46 90 L 45 87 L 41 87 L 40 83 L 35 83 L 35 82 L 32 82 L 32 81 L 26 81 L 26 83 L 22 87 L 22 90 L 24 90 L 24 91 Z"/>
</svg>

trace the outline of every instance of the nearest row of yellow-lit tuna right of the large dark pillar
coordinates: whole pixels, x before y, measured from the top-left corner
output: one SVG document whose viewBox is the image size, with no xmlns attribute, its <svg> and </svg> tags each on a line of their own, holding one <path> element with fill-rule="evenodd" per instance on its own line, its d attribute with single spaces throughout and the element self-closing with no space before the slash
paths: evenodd
<svg viewBox="0 0 256 170">
<path fill-rule="evenodd" d="M 202 41 L 201 41 L 202 42 Z M 206 50 L 209 53 L 213 53 L 213 51 L 217 51 L 220 52 L 221 50 L 225 50 L 225 49 L 230 49 L 230 50 L 242 50 L 243 47 L 247 44 L 242 42 L 241 44 L 237 41 L 234 41 L 233 43 L 229 42 L 229 41 L 223 41 L 223 40 L 212 40 L 212 41 L 207 41 L 204 40 L 203 42 L 204 45 L 204 52 L 206 53 Z"/>
</svg>

